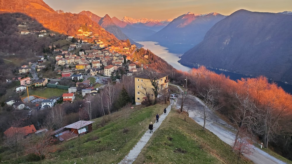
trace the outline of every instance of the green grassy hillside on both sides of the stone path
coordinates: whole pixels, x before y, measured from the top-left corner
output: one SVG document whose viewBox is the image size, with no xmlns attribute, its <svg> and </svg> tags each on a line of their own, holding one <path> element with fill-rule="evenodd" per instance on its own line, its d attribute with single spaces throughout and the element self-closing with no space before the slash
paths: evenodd
<svg viewBox="0 0 292 164">
<path fill-rule="evenodd" d="M 150 120 L 155 119 L 152 115 L 157 112 L 162 114 L 163 108 L 162 104 L 158 104 L 150 107 L 140 105 L 134 106 L 133 109 L 124 109 L 128 110 L 126 131 L 124 131 L 124 110 L 115 112 L 110 117 L 94 119 L 92 121 L 95 123 L 91 133 L 47 147 L 49 153 L 43 163 L 118 163 L 147 131 Z M 211 161 L 213 163 L 231 163 L 234 153 L 228 144 L 209 131 L 202 132 L 201 126 L 192 119 L 187 118 L 187 121 L 183 119 L 184 115 L 172 110 L 161 124 L 162 128 L 159 128 L 149 141 L 152 144 L 148 146 L 152 148 L 147 150 L 155 150 L 158 154 L 152 154 L 151 157 L 140 154 L 135 163 L 171 163 L 174 160 L 185 161 L 185 163 L 192 163 L 194 160 L 206 163 Z M 190 127 L 192 128 L 190 129 Z M 169 137 L 172 140 L 169 140 Z M 184 140 L 181 140 L 182 137 Z M 175 151 L 176 148 L 184 150 L 183 153 Z M 161 158 L 159 152 L 163 152 L 165 158 Z M 9 149 L 2 152 L 1 161 L 5 163 L 13 161 L 14 158 L 10 153 Z M 29 157 L 22 154 L 18 162 L 39 163 L 31 161 L 32 158 Z M 250 163 L 242 159 L 239 162 Z"/>
</svg>

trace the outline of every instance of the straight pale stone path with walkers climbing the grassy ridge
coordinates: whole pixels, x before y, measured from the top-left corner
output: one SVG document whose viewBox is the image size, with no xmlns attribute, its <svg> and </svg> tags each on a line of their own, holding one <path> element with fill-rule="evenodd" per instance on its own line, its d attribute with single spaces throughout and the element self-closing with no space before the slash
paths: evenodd
<svg viewBox="0 0 292 164">
<path fill-rule="evenodd" d="M 171 104 L 173 103 L 172 101 L 173 100 L 170 101 Z M 159 126 L 161 125 L 162 121 L 166 118 L 166 116 L 168 115 L 170 110 L 171 110 L 171 105 L 168 105 L 168 107 L 166 108 L 166 114 L 164 114 L 164 113 L 161 114 L 159 116 L 158 123 L 154 123 L 153 124 L 153 133 L 159 128 Z M 133 149 L 130 150 L 129 154 L 126 155 L 125 158 L 119 164 L 133 163 L 136 160 L 136 158 L 138 157 L 138 155 L 140 154 L 140 152 L 143 149 L 143 147 L 150 140 L 150 137 L 153 135 L 153 133 L 150 133 L 150 131 L 147 130 L 145 132 L 145 134 L 141 137 L 141 139 L 138 141 L 138 143 L 135 145 L 135 147 L 133 147 Z"/>
</svg>

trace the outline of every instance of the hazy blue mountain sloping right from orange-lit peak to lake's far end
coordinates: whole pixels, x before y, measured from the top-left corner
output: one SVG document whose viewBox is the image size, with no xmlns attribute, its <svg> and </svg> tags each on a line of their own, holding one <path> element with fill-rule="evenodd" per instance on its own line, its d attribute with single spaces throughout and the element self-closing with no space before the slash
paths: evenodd
<svg viewBox="0 0 292 164">
<path fill-rule="evenodd" d="M 132 25 L 127 24 L 126 22 L 123 22 L 116 17 L 112 17 L 112 21 L 121 29 L 124 34 L 126 34 L 126 36 L 135 41 L 143 41 L 148 36 L 156 33 L 156 31 L 150 29 L 133 27 Z"/>
</svg>

